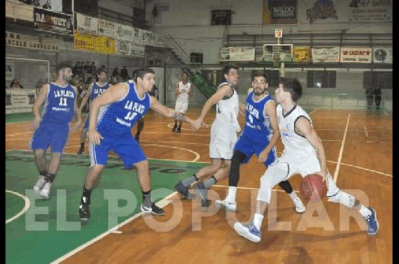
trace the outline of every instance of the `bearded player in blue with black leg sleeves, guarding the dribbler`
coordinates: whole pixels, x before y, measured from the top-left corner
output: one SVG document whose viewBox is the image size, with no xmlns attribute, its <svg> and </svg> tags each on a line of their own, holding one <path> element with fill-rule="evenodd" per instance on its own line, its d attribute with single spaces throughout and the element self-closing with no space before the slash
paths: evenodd
<svg viewBox="0 0 399 264">
<path fill-rule="evenodd" d="M 215 201 L 217 208 L 236 211 L 235 196 L 240 165 L 248 163 L 252 154 L 256 154 L 257 161 L 266 167 L 277 157 L 275 144 L 280 133 L 277 126 L 276 104 L 267 93 L 267 86 L 264 72 L 255 72 L 252 77 L 252 89 L 248 91 L 245 102 L 244 130 L 235 143 L 231 158 L 228 193 L 224 200 Z M 292 190 L 291 184 L 288 181 L 282 181 L 279 185 L 293 200 L 296 212 L 305 212 L 305 206 Z"/>
</svg>

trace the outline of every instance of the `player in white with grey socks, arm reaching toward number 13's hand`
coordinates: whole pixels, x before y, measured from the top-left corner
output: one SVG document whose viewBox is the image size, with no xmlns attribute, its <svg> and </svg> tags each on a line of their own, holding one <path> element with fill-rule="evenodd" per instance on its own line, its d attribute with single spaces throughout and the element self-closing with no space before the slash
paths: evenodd
<svg viewBox="0 0 399 264">
<path fill-rule="evenodd" d="M 179 193 L 186 198 L 190 198 L 189 186 L 195 181 L 212 175 L 207 180 L 198 181 L 193 186 L 200 195 L 203 207 L 209 206 L 209 201 L 206 197 L 210 186 L 226 178 L 228 175 L 233 147 L 237 141 L 237 132 L 240 131 L 237 120 L 239 103 L 236 91 L 238 67 L 235 65 L 226 65 L 223 67 L 223 73 L 226 82 L 221 83 L 214 95 L 205 102 L 200 117 L 194 123 L 194 130 L 199 130 L 203 125 L 206 113 L 216 104 L 216 117 L 210 129 L 210 166 L 201 168 L 193 176 L 184 181 L 179 181 L 175 186 L 175 189 Z"/>
</svg>

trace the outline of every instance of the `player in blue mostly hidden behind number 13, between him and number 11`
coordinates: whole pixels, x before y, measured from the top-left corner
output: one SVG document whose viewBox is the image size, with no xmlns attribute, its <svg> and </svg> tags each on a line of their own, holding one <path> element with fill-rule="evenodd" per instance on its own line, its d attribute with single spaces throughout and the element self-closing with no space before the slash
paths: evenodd
<svg viewBox="0 0 399 264">
<path fill-rule="evenodd" d="M 97 98 L 97 96 L 104 93 L 105 90 L 107 90 L 110 86 L 109 83 L 107 83 L 108 74 L 105 69 L 100 69 L 98 71 L 97 77 L 98 77 L 98 82 L 94 82 L 89 86 L 87 94 L 82 99 L 82 103 L 80 104 L 79 107 L 79 115 L 82 113 L 82 109 L 86 105 L 89 98 L 90 98 L 90 103 L 93 102 L 93 100 Z M 86 140 L 88 129 L 89 129 L 89 114 L 87 114 L 86 122 L 84 123 L 82 132 L 80 133 L 80 148 L 76 153 L 76 155 L 78 156 L 82 155 L 84 152 L 84 143 Z"/>
</svg>

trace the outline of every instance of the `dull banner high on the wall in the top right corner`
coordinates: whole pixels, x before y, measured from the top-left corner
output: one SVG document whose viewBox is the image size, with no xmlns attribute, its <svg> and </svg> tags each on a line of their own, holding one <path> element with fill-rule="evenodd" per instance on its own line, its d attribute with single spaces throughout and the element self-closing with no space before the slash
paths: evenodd
<svg viewBox="0 0 399 264">
<path fill-rule="evenodd" d="M 352 23 L 392 22 L 391 0 L 348 0 L 348 20 Z"/>
</svg>

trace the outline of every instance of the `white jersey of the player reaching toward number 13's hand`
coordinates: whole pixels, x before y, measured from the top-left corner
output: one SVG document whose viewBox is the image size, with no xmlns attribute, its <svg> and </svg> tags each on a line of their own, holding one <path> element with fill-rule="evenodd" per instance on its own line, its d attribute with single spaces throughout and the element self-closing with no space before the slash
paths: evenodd
<svg viewBox="0 0 399 264">
<path fill-rule="evenodd" d="M 221 83 L 217 89 L 219 89 L 223 85 L 229 85 L 231 87 L 231 84 L 229 83 Z M 222 123 L 222 124 L 228 124 L 230 128 L 233 129 L 235 132 L 239 132 L 240 125 L 238 123 L 238 94 L 237 91 L 235 91 L 234 88 L 232 88 L 233 94 L 229 98 L 223 98 L 222 100 L 219 100 L 216 104 L 216 119 L 214 124 L 217 123 Z"/>
</svg>

